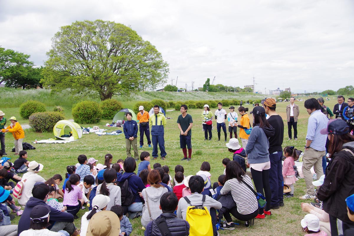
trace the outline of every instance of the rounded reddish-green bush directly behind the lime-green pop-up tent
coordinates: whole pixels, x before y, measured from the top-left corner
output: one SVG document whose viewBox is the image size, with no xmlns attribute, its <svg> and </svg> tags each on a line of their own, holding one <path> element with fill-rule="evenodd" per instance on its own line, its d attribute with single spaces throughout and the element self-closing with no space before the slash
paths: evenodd
<svg viewBox="0 0 354 236">
<path fill-rule="evenodd" d="M 53 132 L 53 127 L 59 120 L 65 120 L 64 115 L 60 112 L 36 112 L 29 117 L 29 125 L 36 132 Z"/>
</svg>

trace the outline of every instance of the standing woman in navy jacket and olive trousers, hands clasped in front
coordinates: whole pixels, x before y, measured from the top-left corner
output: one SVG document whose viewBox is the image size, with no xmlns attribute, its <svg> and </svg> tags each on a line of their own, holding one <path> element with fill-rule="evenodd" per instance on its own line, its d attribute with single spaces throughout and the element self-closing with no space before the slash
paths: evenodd
<svg viewBox="0 0 354 236">
<path fill-rule="evenodd" d="M 138 123 L 135 120 L 132 120 L 132 114 L 130 112 L 127 112 L 125 116 L 128 119 L 126 122 L 124 122 L 123 125 L 127 157 L 132 157 L 130 150 L 131 150 L 131 146 L 133 146 L 134 159 L 137 161 L 139 159 L 138 146 L 137 146 Z"/>
</svg>

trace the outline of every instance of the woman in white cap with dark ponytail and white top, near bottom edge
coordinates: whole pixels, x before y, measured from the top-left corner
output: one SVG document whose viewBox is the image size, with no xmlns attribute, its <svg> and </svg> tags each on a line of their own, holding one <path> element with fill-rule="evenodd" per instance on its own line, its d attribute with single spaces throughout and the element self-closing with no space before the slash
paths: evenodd
<svg viewBox="0 0 354 236">
<path fill-rule="evenodd" d="M 92 199 L 92 210 L 85 212 L 81 218 L 81 233 L 80 236 L 86 236 L 87 226 L 94 214 L 107 209 L 107 204 L 110 201 L 108 196 L 99 194 Z"/>
</svg>

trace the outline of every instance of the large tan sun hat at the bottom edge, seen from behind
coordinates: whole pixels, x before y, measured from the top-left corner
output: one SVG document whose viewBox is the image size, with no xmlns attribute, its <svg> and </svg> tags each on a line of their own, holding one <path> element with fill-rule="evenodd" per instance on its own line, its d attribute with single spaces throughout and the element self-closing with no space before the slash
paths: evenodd
<svg viewBox="0 0 354 236">
<path fill-rule="evenodd" d="M 100 211 L 94 214 L 86 230 L 86 236 L 118 236 L 119 234 L 119 217 L 111 211 Z"/>
</svg>

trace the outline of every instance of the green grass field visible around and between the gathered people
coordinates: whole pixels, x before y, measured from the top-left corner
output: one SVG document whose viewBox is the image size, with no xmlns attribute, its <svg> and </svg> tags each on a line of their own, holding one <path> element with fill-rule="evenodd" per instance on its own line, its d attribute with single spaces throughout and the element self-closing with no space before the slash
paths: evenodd
<svg viewBox="0 0 354 236">
<path fill-rule="evenodd" d="M 14 98 L 16 99 L 16 98 Z M 71 107 L 73 103 L 65 103 L 64 98 L 60 98 L 62 103 L 57 104 L 52 102 L 48 105 L 47 110 L 52 110 L 54 105 L 62 105 L 65 110 L 66 119 L 72 119 Z M 189 99 L 189 98 L 188 98 Z M 176 99 L 180 100 L 180 98 Z M 134 100 L 123 101 L 123 103 L 133 103 Z M 292 145 L 303 150 L 305 144 L 306 130 L 307 130 L 307 119 L 309 115 L 306 112 L 306 109 L 303 107 L 304 102 L 296 102 L 300 107 L 300 115 L 298 121 L 298 140 L 287 141 L 287 123 L 286 123 L 286 114 L 285 107 L 288 103 L 277 103 L 277 109 L 279 115 L 282 116 L 285 124 L 284 131 L 284 143 L 283 147 L 287 145 Z M 325 105 L 328 105 L 330 108 L 333 108 L 333 105 L 336 104 L 336 100 L 326 101 Z M 246 106 L 247 107 L 247 106 Z M 248 105 L 250 110 L 252 109 L 252 104 Z M 22 120 L 19 116 L 19 109 L 17 106 L 6 105 L 6 107 L 1 108 L 2 111 L 6 114 L 5 117 L 9 118 L 10 116 L 16 116 L 19 122 L 23 125 L 28 123 L 28 120 Z M 226 109 L 229 111 L 228 109 Z M 213 109 L 214 111 L 214 109 Z M 166 160 L 157 159 L 155 161 L 150 161 L 151 165 L 155 162 L 160 162 L 161 165 L 167 165 L 170 167 L 170 175 L 173 176 L 174 167 L 178 164 L 183 165 L 184 175 L 195 174 L 199 171 L 200 165 L 203 161 L 209 161 L 211 165 L 212 182 L 217 181 L 217 178 L 220 174 L 223 173 L 222 159 L 229 157 L 232 159 L 232 154 L 228 152 L 224 142 L 217 142 L 217 132 L 214 122 L 213 130 L 213 139 L 211 141 L 204 141 L 204 132 L 202 132 L 201 125 L 201 113 L 202 109 L 190 109 L 188 113 L 192 115 L 194 120 L 194 126 L 192 128 L 192 161 L 183 162 L 180 161 L 183 157 L 182 150 L 179 148 L 179 130 L 177 128 L 177 117 L 180 114 L 179 111 L 169 111 L 166 116 L 171 117 L 172 119 L 167 120 L 167 126 L 165 128 L 165 147 L 167 152 Z M 252 120 L 251 115 L 249 115 Z M 102 120 L 98 125 L 100 128 L 104 128 L 105 123 L 110 123 L 111 120 Z M 82 125 L 87 127 L 85 125 Z M 91 126 L 92 127 L 92 126 Z M 107 128 L 109 131 L 114 131 L 122 128 Z M 229 137 L 229 136 L 228 136 Z M 35 139 L 48 139 L 54 138 L 52 133 L 36 133 L 31 129 L 25 130 L 25 139 L 24 142 L 31 143 Z M 144 140 L 144 148 L 139 149 L 141 151 L 152 152 L 152 148 L 148 148 L 146 144 L 146 139 Z M 241 143 L 241 142 L 240 142 Z M 52 177 L 54 174 L 61 174 L 64 178 L 66 172 L 66 166 L 75 165 L 77 163 L 77 157 L 80 154 L 85 154 L 87 158 L 95 157 L 99 160 L 100 163 L 104 162 L 104 155 L 110 153 L 113 155 L 113 160 L 125 158 L 125 140 L 124 134 L 119 136 L 97 136 L 96 134 L 90 133 L 84 135 L 81 139 L 67 143 L 67 144 L 33 144 L 35 150 L 28 151 L 28 160 L 36 160 L 39 163 L 44 165 L 44 169 L 40 172 L 40 175 L 45 179 Z M 6 134 L 6 151 L 8 157 L 11 157 L 11 161 L 15 161 L 17 156 L 12 155 L 11 149 L 13 147 L 13 137 L 11 134 Z M 267 216 L 263 220 L 256 220 L 255 225 L 251 228 L 245 228 L 243 226 L 244 222 L 235 221 L 240 223 L 233 231 L 221 230 L 221 235 L 303 235 L 300 220 L 305 215 L 301 211 L 300 203 L 302 200 L 299 200 L 298 197 L 302 196 L 305 193 L 305 185 L 303 179 L 300 179 L 295 184 L 295 197 L 286 198 L 285 206 L 280 209 L 272 210 L 272 215 Z M 309 201 L 308 201 L 309 202 Z M 79 212 L 79 216 L 84 214 L 84 211 Z M 13 223 L 17 223 L 19 217 L 16 217 Z M 75 220 L 75 225 L 80 228 L 81 217 L 78 220 Z M 141 229 L 140 219 L 132 220 L 133 232 L 131 235 L 143 235 L 143 230 Z"/>
</svg>

